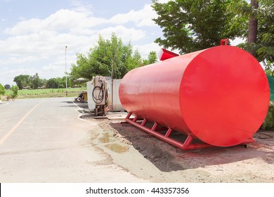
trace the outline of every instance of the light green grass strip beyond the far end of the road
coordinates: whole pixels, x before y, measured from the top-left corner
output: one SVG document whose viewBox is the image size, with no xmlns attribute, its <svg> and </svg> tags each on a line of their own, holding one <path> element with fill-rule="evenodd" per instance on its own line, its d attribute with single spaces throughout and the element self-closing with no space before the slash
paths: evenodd
<svg viewBox="0 0 274 197">
<path fill-rule="evenodd" d="M 67 97 L 77 97 L 85 88 L 68 88 Z M 66 89 L 21 89 L 17 98 L 51 98 L 66 97 Z M 6 91 L 8 94 L 9 91 Z"/>
</svg>

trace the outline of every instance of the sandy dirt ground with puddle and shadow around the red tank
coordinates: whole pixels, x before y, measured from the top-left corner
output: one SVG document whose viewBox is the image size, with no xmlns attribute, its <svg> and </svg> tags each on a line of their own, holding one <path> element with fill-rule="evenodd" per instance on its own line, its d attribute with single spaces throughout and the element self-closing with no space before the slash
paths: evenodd
<svg viewBox="0 0 274 197">
<path fill-rule="evenodd" d="M 82 118 L 100 126 L 91 134 L 91 143 L 108 153 L 106 163 L 111 161 L 136 177 L 150 182 L 274 182 L 273 131 L 256 132 L 256 142 L 248 148 L 182 151 L 127 124 L 124 116 L 94 119 L 86 113 Z"/>
</svg>

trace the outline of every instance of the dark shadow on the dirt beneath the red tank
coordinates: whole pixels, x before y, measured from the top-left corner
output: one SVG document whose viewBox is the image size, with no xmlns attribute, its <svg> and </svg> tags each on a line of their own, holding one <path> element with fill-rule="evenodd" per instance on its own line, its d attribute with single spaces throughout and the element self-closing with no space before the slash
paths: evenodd
<svg viewBox="0 0 274 197">
<path fill-rule="evenodd" d="M 257 132 L 254 135 L 256 142 L 250 144 L 248 148 L 232 146 L 183 151 L 125 122 L 123 124 L 110 123 L 110 126 L 163 172 L 235 163 L 252 158 L 261 158 L 266 163 L 274 163 L 274 132 Z M 176 135 L 179 141 L 184 141 L 186 137 L 181 133 Z"/>
</svg>

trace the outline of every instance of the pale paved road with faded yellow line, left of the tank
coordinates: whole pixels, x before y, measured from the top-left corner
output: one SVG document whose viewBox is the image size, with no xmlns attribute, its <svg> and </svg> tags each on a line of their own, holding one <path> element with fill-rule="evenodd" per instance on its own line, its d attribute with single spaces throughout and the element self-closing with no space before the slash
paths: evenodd
<svg viewBox="0 0 274 197">
<path fill-rule="evenodd" d="M 0 103 L 0 182 L 146 182 L 91 144 L 100 128 L 72 99 Z"/>
</svg>

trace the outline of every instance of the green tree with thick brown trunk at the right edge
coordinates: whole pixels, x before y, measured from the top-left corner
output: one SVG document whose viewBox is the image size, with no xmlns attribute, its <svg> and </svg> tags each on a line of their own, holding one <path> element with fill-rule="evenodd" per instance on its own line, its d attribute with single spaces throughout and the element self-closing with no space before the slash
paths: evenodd
<svg viewBox="0 0 274 197">
<path fill-rule="evenodd" d="M 258 61 L 263 62 L 265 70 L 272 75 L 274 72 L 274 4 L 270 0 L 233 1 L 229 6 L 237 18 L 235 26 L 242 26 L 242 38 L 246 42 L 239 44 L 242 49 L 249 51 Z M 243 24 L 249 24 L 244 26 Z"/>
</svg>

